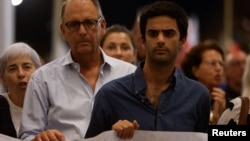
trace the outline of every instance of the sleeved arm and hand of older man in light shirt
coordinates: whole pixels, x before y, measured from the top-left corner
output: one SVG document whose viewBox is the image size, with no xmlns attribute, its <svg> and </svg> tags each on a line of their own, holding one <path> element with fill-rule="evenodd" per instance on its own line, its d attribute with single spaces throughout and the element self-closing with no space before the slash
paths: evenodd
<svg viewBox="0 0 250 141">
<path fill-rule="evenodd" d="M 47 87 L 34 76 L 31 77 L 25 93 L 18 138 L 34 141 L 57 138 L 58 141 L 65 141 L 59 131 L 44 131 L 48 123 L 49 106 Z"/>
</svg>

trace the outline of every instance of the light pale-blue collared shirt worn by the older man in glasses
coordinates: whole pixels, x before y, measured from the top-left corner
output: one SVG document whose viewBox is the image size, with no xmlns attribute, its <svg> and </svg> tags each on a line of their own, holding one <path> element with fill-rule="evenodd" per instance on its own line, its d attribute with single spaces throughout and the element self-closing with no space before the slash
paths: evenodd
<svg viewBox="0 0 250 141">
<path fill-rule="evenodd" d="M 102 50 L 101 50 L 102 51 Z M 80 73 L 70 51 L 36 70 L 25 94 L 19 138 L 31 140 L 46 129 L 57 129 L 69 141 L 84 138 L 93 102 L 103 84 L 135 71 L 136 66 L 111 58 L 102 51 L 95 91 Z"/>
</svg>

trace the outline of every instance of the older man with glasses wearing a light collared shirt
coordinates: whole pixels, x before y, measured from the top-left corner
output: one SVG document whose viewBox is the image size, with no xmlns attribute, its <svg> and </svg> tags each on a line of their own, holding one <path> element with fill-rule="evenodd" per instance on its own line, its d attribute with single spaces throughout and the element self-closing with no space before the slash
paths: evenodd
<svg viewBox="0 0 250 141">
<path fill-rule="evenodd" d="M 61 20 L 61 33 L 70 50 L 32 75 L 19 132 L 22 140 L 84 138 L 97 91 L 136 69 L 101 49 L 106 21 L 98 0 L 64 1 Z"/>
</svg>

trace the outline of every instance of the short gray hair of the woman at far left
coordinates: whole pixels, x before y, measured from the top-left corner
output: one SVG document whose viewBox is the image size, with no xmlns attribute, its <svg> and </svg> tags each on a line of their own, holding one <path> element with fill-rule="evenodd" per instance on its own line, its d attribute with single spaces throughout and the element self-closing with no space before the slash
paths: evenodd
<svg viewBox="0 0 250 141">
<path fill-rule="evenodd" d="M 18 55 L 27 55 L 31 58 L 34 63 L 35 68 L 39 68 L 41 66 L 41 60 L 38 53 L 27 43 L 18 42 L 10 45 L 7 49 L 5 49 L 0 56 L 0 76 L 4 75 L 4 70 L 6 64 L 9 59 L 15 58 Z"/>
</svg>

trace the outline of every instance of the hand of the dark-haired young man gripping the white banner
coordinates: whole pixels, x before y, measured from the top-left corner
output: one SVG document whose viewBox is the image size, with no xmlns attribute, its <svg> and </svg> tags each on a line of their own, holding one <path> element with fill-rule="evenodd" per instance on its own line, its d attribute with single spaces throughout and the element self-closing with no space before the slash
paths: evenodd
<svg viewBox="0 0 250 141">
<path fill-rule="evenodd" d="M 134 136 L 135 130 L 139 128 L 136 120 L 130 122 L 128 120 L 119 120 L 113 126 L 117 136 L 121 139 L 131 139 Z"/>
</svg>

